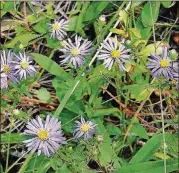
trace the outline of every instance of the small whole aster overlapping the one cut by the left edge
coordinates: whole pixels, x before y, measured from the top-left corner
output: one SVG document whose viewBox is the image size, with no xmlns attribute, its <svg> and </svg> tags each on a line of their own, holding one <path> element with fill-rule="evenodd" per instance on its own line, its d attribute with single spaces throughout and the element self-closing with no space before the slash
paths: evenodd
<svg viewBox="0 0 179 173">
<path fill-rule="evenodd" d="M 35 76 L 36 68 L 32 65 L 33 61 L 29 56 L 24 54 L 15 55 L 17 57 L 17 61 L 13 61 L 15 64 L 14 68 L 16 69 L 16 73 L 20 76 L 20 79 L 26 79 L 27 76 Z"/>
</svg>

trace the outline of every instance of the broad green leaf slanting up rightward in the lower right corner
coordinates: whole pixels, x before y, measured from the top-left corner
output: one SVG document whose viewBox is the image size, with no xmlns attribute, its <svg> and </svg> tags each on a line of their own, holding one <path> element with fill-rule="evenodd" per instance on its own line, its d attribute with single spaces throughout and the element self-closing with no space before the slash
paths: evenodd
<svg viewBox="0 0 179 173">
<path fill-rule="evenodd" d="M 165 133 L 165 137 L 169 138 L 172 134 Z M 161 147 L 163 134 L 155 135 L 147 141 L 147 143 L 136 153 L 129 164 L 136 164 L 148 161 L 154 153 Z"/>
</svg>

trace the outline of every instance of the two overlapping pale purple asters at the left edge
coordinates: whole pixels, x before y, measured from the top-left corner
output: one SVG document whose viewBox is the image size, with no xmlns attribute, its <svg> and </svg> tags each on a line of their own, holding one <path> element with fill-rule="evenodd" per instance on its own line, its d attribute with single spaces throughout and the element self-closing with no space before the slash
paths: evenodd
<svg viewBox="0 0 179 173">
<path fill-rule="evenodd" d="M 18 55 L 9 50 L 0 52 L 1 56 L 1 89 L 8 88 L 8 80 L 18 83 L 19 79 L 36 74 L 36 67 L 29 56 L 24 53 Z"/>
</svg>

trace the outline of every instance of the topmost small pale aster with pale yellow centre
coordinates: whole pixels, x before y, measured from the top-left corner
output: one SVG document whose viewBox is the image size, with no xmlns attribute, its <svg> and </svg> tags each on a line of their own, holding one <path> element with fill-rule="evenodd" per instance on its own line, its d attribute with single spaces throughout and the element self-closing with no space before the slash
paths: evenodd
<svg viewBox="0 0 179 173">
<path fill-rule="evenodd" d="M 49 24 L 51 27 L 51 38 L 57 38 L 58 40 L 62 40 L 64 36 L 67 35 L 65 32 L 68 28 L 68 21 L 62 19 L 59 22 L 55 20 L 53 24 Z"/>
</svg>

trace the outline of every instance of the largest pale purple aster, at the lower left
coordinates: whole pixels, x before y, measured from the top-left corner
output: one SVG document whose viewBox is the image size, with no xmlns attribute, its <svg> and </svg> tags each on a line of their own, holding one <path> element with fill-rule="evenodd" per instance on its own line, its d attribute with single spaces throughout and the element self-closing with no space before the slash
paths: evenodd
<svg viewBox="0 0 179 173">
<path fill-rule="evenodd" d="M 38 155 L 44 153 L 50 156 L 55 153 L 61 144 L 66 144 L 66 138 L 63 137 L 61 122 L 58 119 L 47 115 L 45 123 L 38 116 L 32 119 L 26 125 L 25 134 L 33 136 L 32 139 L 23 141 L 28 147 L 28 151 L 35 152 Z"/>
</svg>

